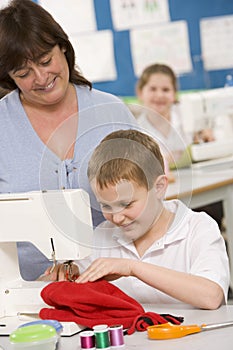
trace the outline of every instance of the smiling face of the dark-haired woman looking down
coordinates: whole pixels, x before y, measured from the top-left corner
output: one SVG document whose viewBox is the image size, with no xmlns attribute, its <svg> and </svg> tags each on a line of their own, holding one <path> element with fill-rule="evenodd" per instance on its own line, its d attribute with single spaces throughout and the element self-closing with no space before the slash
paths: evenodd
<svg viewBox="0 0 233 350">
<path fill-rule="evenodd" d="M 53 105 L 62 100 L 69 84 L 69 68 L 64 50 L 56 45 L 38 62 L 27 61 L 10 77 L 22 93 L 23 99 L 34 105 Z"/>
</svg>

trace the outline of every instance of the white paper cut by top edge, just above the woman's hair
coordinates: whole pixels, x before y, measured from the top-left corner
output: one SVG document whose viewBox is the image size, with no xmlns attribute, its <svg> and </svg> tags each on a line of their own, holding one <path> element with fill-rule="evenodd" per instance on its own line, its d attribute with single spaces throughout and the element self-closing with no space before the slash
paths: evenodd
<svg viewBox="0 0 233 350">
<path fill-rule="evenodd" d="M 96 30 L 94 0 L 38 0 L 67 34 Z"/>
</svg>

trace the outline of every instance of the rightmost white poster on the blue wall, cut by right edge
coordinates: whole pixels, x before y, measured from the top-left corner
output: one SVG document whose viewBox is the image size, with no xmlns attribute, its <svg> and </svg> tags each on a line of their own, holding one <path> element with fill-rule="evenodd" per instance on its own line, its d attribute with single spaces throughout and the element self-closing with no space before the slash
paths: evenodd
<svg viewBox="0 0 233 350">
<path fill-rule="evenodd" d="M 204 68 L 233 68 L 233 15 L 201 19 L 200 33 Z"/>
</svg>

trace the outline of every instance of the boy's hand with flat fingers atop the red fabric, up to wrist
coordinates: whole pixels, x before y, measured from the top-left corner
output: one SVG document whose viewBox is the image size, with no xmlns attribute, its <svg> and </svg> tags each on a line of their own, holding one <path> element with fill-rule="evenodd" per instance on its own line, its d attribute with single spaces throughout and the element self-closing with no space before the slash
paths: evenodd
<svg viewBox="0 0 233 350">
<path fill-rule="evenodd" d="M 87 269 L 84 271 L 75 282 L 85 283 L 94 282 L 100 278 L 104 278 L 107 281 L 113 281 L 122 276 L 131 275 L 131 263 L 130 259 L 120 258 L 99 258 L 96 259 Z"/>
</svg>

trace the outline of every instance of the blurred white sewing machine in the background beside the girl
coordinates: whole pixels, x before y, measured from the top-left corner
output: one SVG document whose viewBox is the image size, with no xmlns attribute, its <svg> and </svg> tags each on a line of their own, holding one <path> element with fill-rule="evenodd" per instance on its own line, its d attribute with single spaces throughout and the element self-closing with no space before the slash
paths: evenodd
<svg viewBox="0 0 233 350">
<path fill-rule="evenodd" d="M 210 165 L 209 160 L 218 159 L 212 163 L 220 164 L 219 159 L 226 157 L 226 162 L 233 162 L 233 87 L 184 93 L 179 100 L 185 133 L 211 128 L 216 139 L 192 145 L 192 160 Z"/>
</svg>

